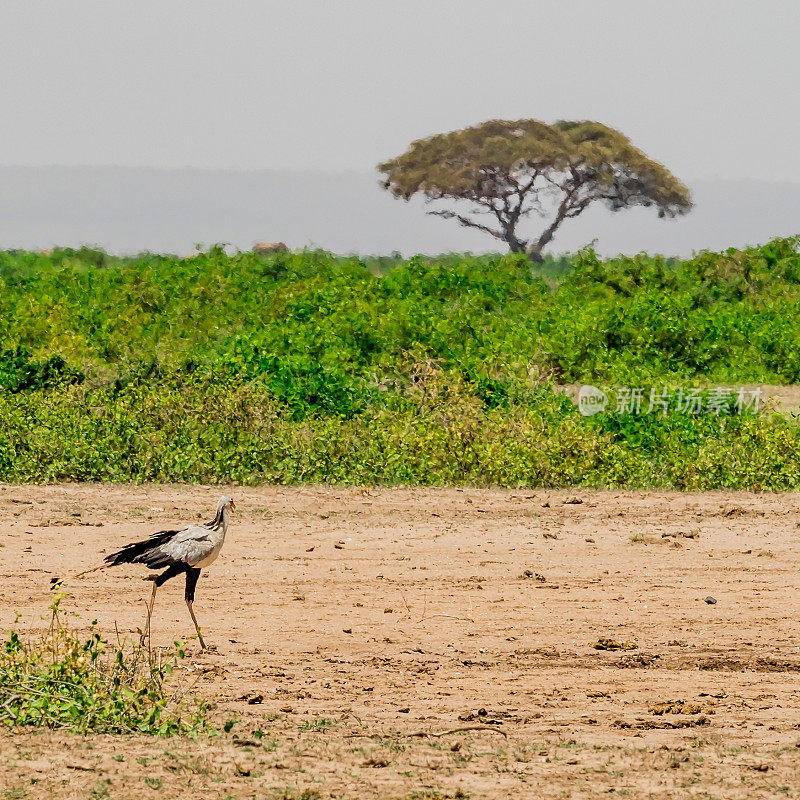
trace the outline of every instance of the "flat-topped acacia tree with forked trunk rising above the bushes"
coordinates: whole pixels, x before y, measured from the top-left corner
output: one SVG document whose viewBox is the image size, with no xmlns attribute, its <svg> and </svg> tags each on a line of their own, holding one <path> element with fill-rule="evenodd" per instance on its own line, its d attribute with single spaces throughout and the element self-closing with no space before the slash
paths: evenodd
<svg viewBox="0 0 800 800">
<path fill-rule="evenodd" d="M 395 197 L 466 201 L 468 215 L 450 208 L 427 213 L 485 231 L 535 261 L 561 223 L 591 203 L 612 211 L 655 206 L 659 217 L 692 207 L 689 190 L 666 167 L 599 122 L 489 120 L 412 142 L 378 170 Z M 544 227 L 523 239 L 518 226 L 531 214 Z M 482 221 L 487 215 L 489 224 Z"/>
</svg>

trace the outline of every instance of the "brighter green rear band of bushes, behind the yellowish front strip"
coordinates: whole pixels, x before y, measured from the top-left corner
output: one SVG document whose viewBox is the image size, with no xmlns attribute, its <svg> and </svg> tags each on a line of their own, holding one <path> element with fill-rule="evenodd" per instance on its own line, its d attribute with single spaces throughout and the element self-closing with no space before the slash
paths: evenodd
<svg viewBox="0 0 800 800">
<path fill-rule="evenodd" d="M 518 256 L 415 257 L 382 277 L 370 266 L 221 248 L 0 253 L 0 382 L 14 359 L 56 356 L 90 381 L 223 370 L 291 394 L 322 371 L 358 393 L 408 353 L 479 380 L 800 381 L 793 239 L 681 262 L 585 251 L 558 281 L 563 263 Z"/>
</svg>

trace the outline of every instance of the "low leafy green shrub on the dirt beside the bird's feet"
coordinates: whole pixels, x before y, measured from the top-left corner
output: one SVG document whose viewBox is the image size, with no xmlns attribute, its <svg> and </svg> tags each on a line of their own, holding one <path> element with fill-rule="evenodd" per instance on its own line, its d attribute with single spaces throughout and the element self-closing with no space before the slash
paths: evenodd
<svg viewBox="0 0 800 800">
<path fill-rule="evenodd" d="M 166 681 L 178 659 L 110 645 L 94 623 L 85 640 L 61 620 L 62 595 L 50 606 L 46 635 L 23 641 L 16 631 L 0 649 L 0 723 L 80 733 L 192 734 L 205 728 L 205 706 L 181 716 Z"/>
</svg>

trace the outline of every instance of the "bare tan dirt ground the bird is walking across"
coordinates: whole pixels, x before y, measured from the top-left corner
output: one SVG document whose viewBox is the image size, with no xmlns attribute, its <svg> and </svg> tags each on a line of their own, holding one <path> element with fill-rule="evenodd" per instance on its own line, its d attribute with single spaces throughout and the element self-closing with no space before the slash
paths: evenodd
<svg viewBox="0 0 800 800">
<path fill-rule="evenodd" d="M 4 729 L 0 799 L 800 795 L 800 496 L 231 492 L 195 603 L 216 649 L 190 642 L 177 675 L 231 731 Z M 52 575 L 219 494 L 0 487 L 0 629 L 43 631 Z M 87 575 L 64 604 L 135 637 L 140 578 Z M 153 643 L 191 633 L 168 583 Z"/>
</svg>

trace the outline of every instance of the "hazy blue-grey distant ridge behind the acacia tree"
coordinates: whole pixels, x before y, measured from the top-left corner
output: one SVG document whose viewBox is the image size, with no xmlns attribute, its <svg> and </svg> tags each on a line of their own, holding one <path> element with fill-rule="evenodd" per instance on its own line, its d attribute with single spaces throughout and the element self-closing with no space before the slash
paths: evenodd
<svg viewBox="0 0 800 800">
<path fill-rule="evenodd" d="M 604 255 L 688 255 L 800 232 L 800 184 L 689 183 L 696 208 L 687 217 L 590 209 L 563 227 L 551 250 L 596 240 Z M 249 249 L 260 240 L 360 254 L 497 249 L 486 235 L 426 216 L 420 202 L 388 196 L 368 171 L 0 167 L 2 249 L 93 244 L 188 253 L 198 243 Z"/>
</svg>

